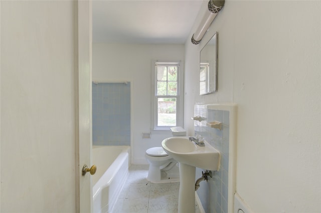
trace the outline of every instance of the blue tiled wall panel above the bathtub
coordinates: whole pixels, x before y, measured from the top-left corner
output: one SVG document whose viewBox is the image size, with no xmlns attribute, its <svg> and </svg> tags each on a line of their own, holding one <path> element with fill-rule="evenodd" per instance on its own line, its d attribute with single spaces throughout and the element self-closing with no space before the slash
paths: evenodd
<svg viewBox="0 0 321 213">
<path fill-rule="evenodd" d="M 92 83 L 94 145 L 130 145 L 130 82 Z"/>
</svg>

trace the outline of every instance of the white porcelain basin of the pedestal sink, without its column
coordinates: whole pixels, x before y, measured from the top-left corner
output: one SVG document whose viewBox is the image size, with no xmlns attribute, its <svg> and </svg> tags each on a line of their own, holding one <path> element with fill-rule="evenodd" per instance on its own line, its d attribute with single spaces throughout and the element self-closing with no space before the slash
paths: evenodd
<svg viewBox="0 0 321 213">
<path fill-rule="evenodd" d="M 199 146 L 189 137 L 170 137 L 162 141 L 162 146 L 179 163 L 216 171 L 220 168 L 220 152 L 204 143 L 205 146 Z"/>
</svg>

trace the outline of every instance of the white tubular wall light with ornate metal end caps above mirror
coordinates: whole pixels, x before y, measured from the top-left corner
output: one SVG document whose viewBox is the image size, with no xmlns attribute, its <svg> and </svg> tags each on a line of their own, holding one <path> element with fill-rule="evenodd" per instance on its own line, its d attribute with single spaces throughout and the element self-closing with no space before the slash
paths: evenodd
<svg viewBox="0 0 321 213">
<path fill-rule="evenodd" d="M 198 45 L 207 29 L 210 27 L 211 23 L 215 19 L 216 15 L 221 11 L 225 3 L 225 0 L 210 0 L 208 6 L 208 11 L 204 15 L 202 22 L 196 32 L 192 36 L 192 43 Z"/>
</svg>

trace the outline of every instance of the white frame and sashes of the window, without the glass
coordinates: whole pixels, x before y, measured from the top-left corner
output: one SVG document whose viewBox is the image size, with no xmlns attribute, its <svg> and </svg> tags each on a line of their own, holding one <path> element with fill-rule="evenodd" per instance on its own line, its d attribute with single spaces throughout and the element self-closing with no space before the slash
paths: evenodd
<svg viewBox="0 0 321 213">
<path fill-rule="evenodd" d="M 157 95 L 157 65 L 161 66 L 177 66 L 177 95 Z M 184 69 L 182 61 L 152 61 L 152 75 L 151 82 L 153 90 L 151 92 L 152 100 L 152 130 L 170 130 L 173 126 L 158 126 L 158 98 L 176 98 L 176 126 L 183 126 L 183 104 L 184 104 Z M 167 81 L 171 82 L 171 81 Z"/>
</svg>

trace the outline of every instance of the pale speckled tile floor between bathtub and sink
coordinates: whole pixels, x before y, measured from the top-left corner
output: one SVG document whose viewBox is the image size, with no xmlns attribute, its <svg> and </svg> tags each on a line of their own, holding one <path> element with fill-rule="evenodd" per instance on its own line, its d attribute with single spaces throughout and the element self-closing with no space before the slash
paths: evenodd
<svg viewBox="0 0 321 213">
<path fill-rule="evenodd" d="M 148 165 L 131 165 L 112 213 L 178 212 L 179 182 L 151 183 L 146 180 Z M 195 212 L 200 213 L 195 205 Z"/>
</svg>

